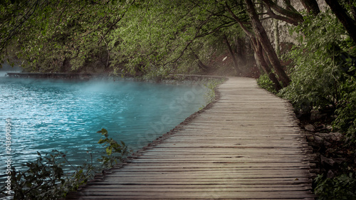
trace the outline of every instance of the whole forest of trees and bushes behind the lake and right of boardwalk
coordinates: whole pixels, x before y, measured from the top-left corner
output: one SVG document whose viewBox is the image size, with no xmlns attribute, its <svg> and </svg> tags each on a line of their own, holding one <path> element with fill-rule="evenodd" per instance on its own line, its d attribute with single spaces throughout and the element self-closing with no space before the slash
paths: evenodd
<svg viewBox="0 0 356 200">
<path fill-rule="evenodd" d="M 342 133 L 337 147 L 319 147 L 320 163 L 342 159 L 324 159 L 314 188 L 355 199 L 355 19 L 355 0 L 3 0 L 0 61 L 26 72 L 258 78 L 301 120 Z"/>
</svg>

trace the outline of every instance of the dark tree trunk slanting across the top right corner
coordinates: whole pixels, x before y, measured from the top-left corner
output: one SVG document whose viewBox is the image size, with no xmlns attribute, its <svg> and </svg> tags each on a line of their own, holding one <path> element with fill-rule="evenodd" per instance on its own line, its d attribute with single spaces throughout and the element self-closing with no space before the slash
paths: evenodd
<svg viewBox="0 0 356 200">
<path fill-rule="evenodd" d="M 335 13 L 337 19 L 345 27 L 347 33 L 350 34 L 352 40 L 356 43 L 356 23 L 348 16 L 347 11 L 336 0 L 325 0 L 326 4 L 330 6 L 330 9 Z"/>
</svg>

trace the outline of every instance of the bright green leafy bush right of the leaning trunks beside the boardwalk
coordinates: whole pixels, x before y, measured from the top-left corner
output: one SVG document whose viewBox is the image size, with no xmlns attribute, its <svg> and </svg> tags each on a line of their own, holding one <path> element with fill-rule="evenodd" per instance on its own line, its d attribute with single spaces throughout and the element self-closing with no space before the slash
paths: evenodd
<svg viewBox="0 0 356 200">
<path fill-rule="evenodd" d="M 335 107 L 340 101 L 340 80 L 345 74 L 340 56 L 350 48 L 345 43 L 345 29 L 328 11 L 315 18 L 305 17 L 305 22 L 293 31 L 298 33 L 300 42 L 288 54 L 293 60 L 293 81 L 280 94 L 293 102 L 296 110 Z"/>
</svg>

